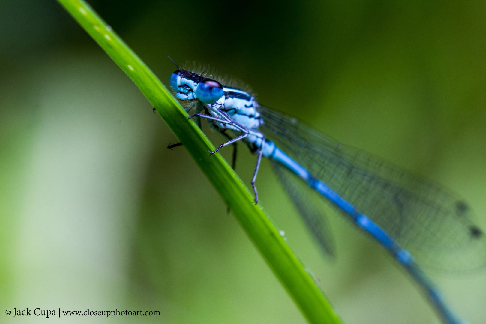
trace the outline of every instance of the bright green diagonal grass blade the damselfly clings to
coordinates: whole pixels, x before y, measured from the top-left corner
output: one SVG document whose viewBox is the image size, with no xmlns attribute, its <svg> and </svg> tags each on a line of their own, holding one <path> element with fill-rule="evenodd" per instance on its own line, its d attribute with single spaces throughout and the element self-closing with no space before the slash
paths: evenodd
<svg viewBox="0 0 486 324">
<path fill-rule="evenodd" d="M 287 246 L 242 180 L 219 154 L 209 157 L 212 144 L 140 58 L 86 2 L 58 0 L 115 63 L 133 80 L 189 151 L 214 188 L 294 299 L 309 323 L 341 323 L 330 303 Z"/>
</svg>

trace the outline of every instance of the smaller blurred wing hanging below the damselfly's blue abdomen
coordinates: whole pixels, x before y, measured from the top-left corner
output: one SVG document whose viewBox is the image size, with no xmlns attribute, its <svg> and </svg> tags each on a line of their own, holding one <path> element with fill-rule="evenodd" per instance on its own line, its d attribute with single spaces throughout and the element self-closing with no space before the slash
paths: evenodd
<svg viewBox="0 0 486 324">
<path fill-rule="evenodd" d="M 319 208 L 319 204 L 323 205 L 327 202 L 319 199 L 317 192 L 277 162 L 272 161 L 272 167 L 322 251 L 327 256 L 334 257 L 334 240 L 332 239 L 329 223 L 324 217 L 323 208 Z"/>
</svg>

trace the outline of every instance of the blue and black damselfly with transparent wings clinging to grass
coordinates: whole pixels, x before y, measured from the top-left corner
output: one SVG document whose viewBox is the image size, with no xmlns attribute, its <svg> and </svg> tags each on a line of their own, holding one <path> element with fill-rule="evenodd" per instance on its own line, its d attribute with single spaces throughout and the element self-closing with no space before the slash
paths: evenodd
<svg viewBox="0 0 486 324">
<path fill-rule="evenodd" d="M 325 253 L 332 255 L 334 245 L 324 211 L 312 199 L 315 195 L 390 252 L 425 291 L 444 323 L 461 323 L 418 264 L 454 272 L 486 265 L 484 235 L 470 221 L 466 203 L 432 181 L 259 104 L 241 87 L 181 68 L 170 83 L 187 110 L 194 110 L 190 118 L 199 124 L 207 119 L 228 139 L 211 154 L 243 141 L 258 156 L 251 180 L 255 202 L 255 181 L 266 157 Z"/>
</svg>

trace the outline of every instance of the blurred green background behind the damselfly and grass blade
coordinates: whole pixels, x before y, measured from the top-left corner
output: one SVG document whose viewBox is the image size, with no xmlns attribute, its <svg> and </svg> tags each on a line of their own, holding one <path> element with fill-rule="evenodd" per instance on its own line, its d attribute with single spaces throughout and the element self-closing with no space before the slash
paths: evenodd
<svg viewBox="0 0 486 324">
<path fill-rule="evenodd" d="M 89 3 L 166 85 L 167 55 L 238 77 L 260 102 L 452 188 L 486 228 L 485 2 Z M 162 119 L 60 5 L 2 0 L 0 39 L 1 323 L 305 323 L 188 153 L 166 149 L 177 139 Z M 267 161 L 258 186 L 345 323 L 438 323 L 337 214 L 338 258 L 323 259 Z M 486 323 L 485 272 L 432 276 L 462 318 Z M 161 315 L 5 315 L 14 307 Z"/>
</svg>

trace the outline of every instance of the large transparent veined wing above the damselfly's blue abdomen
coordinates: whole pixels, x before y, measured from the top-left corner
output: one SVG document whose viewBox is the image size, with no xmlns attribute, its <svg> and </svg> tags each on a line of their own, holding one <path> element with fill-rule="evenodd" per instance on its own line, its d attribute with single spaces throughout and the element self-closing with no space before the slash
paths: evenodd
<svg viewBox="0 0 486 324">
<path fill-rule="evenodd" d="M 447 189 L 345 146 L 294 117 L 264 106 L 258 110 L 265 136 L 381 226 L 417 262 L 447 272 L 486 266 L 482 231 L 471 222 L 469 206 Z M 307 224 L 316 235 L 312 222 Z"/>
</svg>

